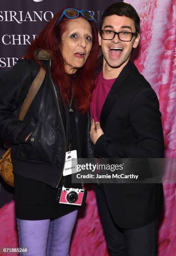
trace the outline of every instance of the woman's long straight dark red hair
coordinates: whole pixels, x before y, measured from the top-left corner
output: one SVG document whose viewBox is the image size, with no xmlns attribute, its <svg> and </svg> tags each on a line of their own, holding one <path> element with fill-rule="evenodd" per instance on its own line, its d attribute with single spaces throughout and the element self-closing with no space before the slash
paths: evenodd
<svg viewBox="0 0 176 256">
<path fill-rule="evenodd" d="M 70 99 L 70 77 L 65 72 L 64 68 L 61 36 L 67 30 L 67 23 L 70 22 L 71 19 L 63 16 L 56 26 L 63 10 L 57 13 L 49 21 L 43 31 L 35 38 L 35 40 L 32 41 L 31 45 L 27 49 L 27 55 L 25 55 L 25 58 L 34 59 L 37 63 L 42 65 L 35 59 L 35 51 L 44 49 L 50 54 L 53 61 L 51 69 L 52 77 L 60 88 L 62 101 L 65 105 L 68 105 L 67 99 Z M 84 18 L 82 15 L 79 17 Z M 76 77 L 74 78 L 72 84 L 74 88 L 73 97 L 75 107 L 81 113 L 86 113 L 89 109 L 89 104 L 92 99 L 92 92 L 94 90 L 97 59 L 99 57 L 98 30 L 94 24 L 94 21 L 86 18 L 84 19 L 89 22 L 92 28 L 92 49 L 84 66 L 77 70 Z"/>
</svg>

